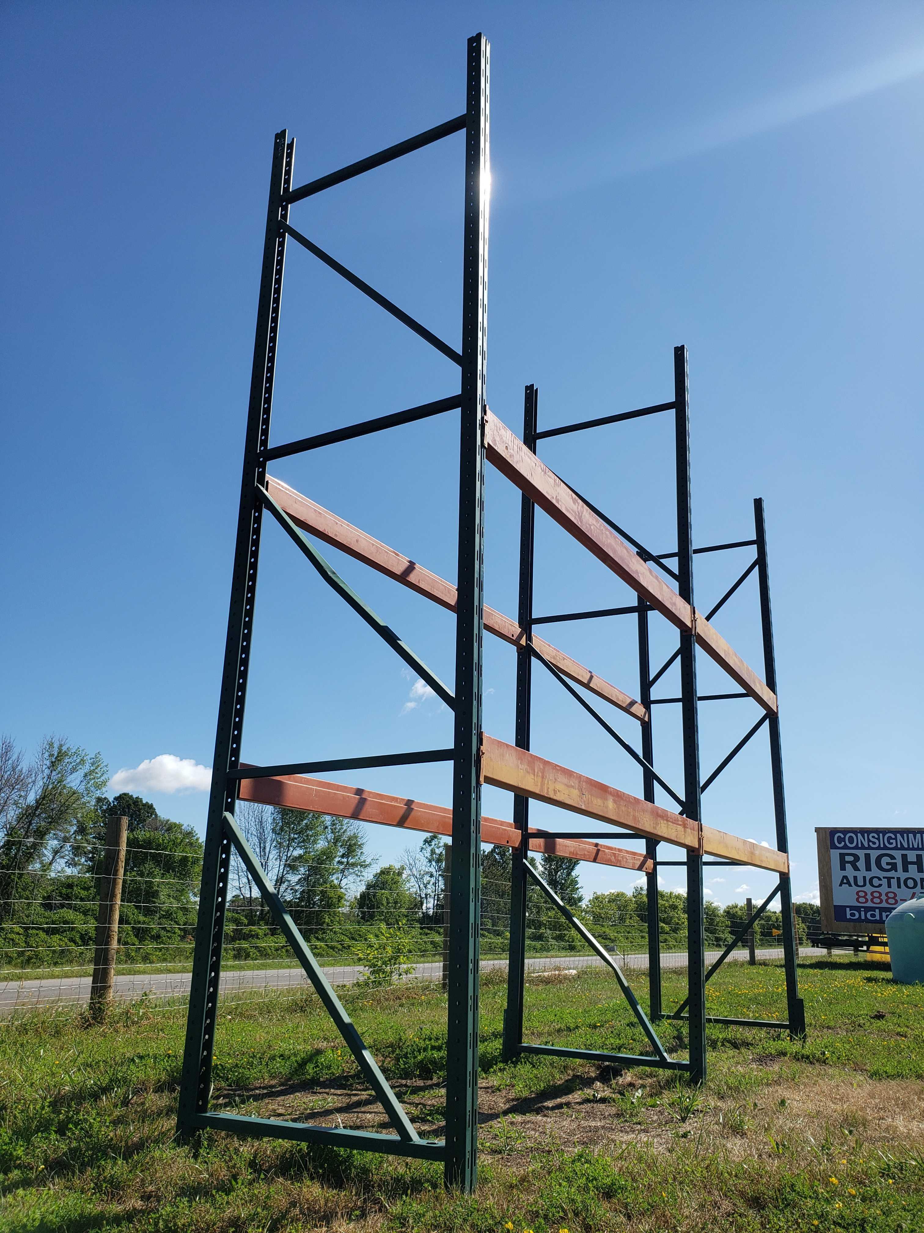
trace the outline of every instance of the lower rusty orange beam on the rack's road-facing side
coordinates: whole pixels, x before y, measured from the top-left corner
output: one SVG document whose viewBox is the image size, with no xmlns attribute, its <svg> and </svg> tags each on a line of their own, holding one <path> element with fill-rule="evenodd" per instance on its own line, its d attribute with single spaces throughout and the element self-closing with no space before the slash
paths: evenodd
<svg viewBox="0 0 924 1233">
<path fill-rule="evenodd" d="M 452 835 L 452 810 L 444 805 L 430 805 L 423 800 L 389 797 L 367 788 L 350 788 L 342 783 L 310 779 L 308 776 L 285 776 L 266 779 L 241 779 L 239 795 L 260 805 L 282 805 L 286 809 L 303 809 L 307 813 L 331 814 L 334 817 L 354 817 L 361 822 L 379 826 L 397 826 L 405 831 L 426 831 L 431 835 Z M 520 832 L 511 822 L 499 817 L 482 819 L 484 843 L 503 843 L 517 847 Z M 530 851 L 552 856 L 567 856 L 591 864 L 607 864 L 637 873 L 650 873 L 653 864 L 644 852 L 595 843 L 590 840 L 562 840 L 543 835 L 530 827 Z"/>
</svg>

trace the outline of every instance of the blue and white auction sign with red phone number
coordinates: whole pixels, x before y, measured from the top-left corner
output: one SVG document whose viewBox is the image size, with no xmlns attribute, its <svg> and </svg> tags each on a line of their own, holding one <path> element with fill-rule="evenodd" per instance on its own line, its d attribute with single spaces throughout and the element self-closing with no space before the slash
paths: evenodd
<svg viewBox="0 0 924 1233">
<path fill-rule="evenodd" d="M 881 933 L 893 907 L 924 895 L 924 830 L 817 826 L 822 927 Z"/>
</svg>

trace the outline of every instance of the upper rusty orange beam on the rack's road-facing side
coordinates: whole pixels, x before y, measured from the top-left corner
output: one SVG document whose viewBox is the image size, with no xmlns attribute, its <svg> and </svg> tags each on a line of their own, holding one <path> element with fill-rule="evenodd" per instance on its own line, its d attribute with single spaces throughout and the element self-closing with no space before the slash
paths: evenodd
<svg viewBox="0 0 924 1233">
<path fill-rule="evenodd" d="M 336 514 L 331 514 L 329 509 L 310 501 L 287 483 L 270 477 L 266 481 L 266 490 L 276 504 L 285 509 L 292 522 L 302 530 L 317 535 L 325 544 L 333 544 L 347 556 L 372 566 L 386 577 L 400 582 L 402 586 L 409 587 L 419 596 L 432 599 L 442 608 L 447 608 L 450 612 L 456 610 L 456 588 L 451 582 L 426 570 L 423 565 L 418 565 L 416 561 L 411 561 L 410 557 L 403 556 L 387 544 L 382 544 L 381 540 L 373 539 L 357 526 L 352 526 L 342 518 L 338 518 Z M 487 604 L 484 605 L 484 628 L 489 634 L 494 634 L 513 646 L 522 646 L 525 641 L 524 630 L 515 620 Z M 590 693 L 612 703 L 614 707 L 632 715 L 639 723 L 647 721 L 648 711 L 641 702 L 610 684 L 590 668 L 585 668 L 583 663 L 578 663 L 577 660 L 559 651 L 551 642 L 546 642 L 545 639 L 533 635 L 532 644 L 549 663 L 558 668 L 563 677 L 584 686 Z"/>
</svg>

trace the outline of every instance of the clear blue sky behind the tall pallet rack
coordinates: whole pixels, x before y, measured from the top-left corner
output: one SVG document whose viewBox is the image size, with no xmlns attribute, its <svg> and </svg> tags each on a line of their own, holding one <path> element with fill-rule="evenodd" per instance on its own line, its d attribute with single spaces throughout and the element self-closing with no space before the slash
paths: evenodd
<svg viewBox="0 0 924 1233">
<path fill-rule="evenodd" d="M 817 885 L 816 826 L 920 822 L 919 5 L 11 2 L 2 23 L 1 726 L 17 741 L 59 732 L 113 772 L 211 764 L 272 136 L 296 136 L 303 182 L 457 115 L 464 41 L 483 30 L 492 408 L 519 432 L 526 382 L 545 427 L 667 399 L 685 343 L 696 541 L 749 538 L 752 498 L 766 501 L 795 891 Z M 293 223 L 455 344 L 461 202 L 456 137 Z M 457 388 L 448 361 L 338 281 L 290 250 L 276 443 Z M 272 471 L 453 577 L 455 433 L 450 413 Z M 542 456 L 673 546 L 669 420 Z M 496 473 L 487 510 L 488 602 L 513 614 L 519 497 Z M 326 555 L 451 681 L 448 614 Z M 747 563 L 700 557 L 699 607 Z M 537 612 L 631 598 L 542 515 L 537 566 Z M 407 705 L 402 663 L 276 528 L 260 568 L 248 758 L 448 743 L 448 713 Z M 755 591 L 716 624 L 759 668 Z M 636 692 L 631 619 L 543 633 Z M 485 727 L 511 739 L 514 653 L 489 639 L 487 666 Z M 722 688 L 708 661 L 701 674 Z M 641 790 L 553 682 L 536 692 L 538 753 Z M 679 784 L 675 709 L 654 740 Z M 747 702 L 703 707 L 703 773 L 755 718 Z M 198 780 L 149 795 L 202 829 Z M 441 767 L 360 782 L 450 800 Z M 485 813 L 510 806 L 485 792 Z M 761 737 L 705 820 L 772 838 Z M 376 829 L 370 846 L 394 859 L 405 838 Z M 748 870 L 710 889 L 729 901 L 769 884 Z"/>
</svg>

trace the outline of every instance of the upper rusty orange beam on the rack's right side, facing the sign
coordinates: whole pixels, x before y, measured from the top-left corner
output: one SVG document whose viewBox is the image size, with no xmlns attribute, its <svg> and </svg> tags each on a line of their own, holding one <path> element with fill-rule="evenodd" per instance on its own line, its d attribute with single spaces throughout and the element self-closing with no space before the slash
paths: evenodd
<svg viewBox="0 0 924 1233">
<path fill-rule="evenodd" d="M 776 694 L 753 668 L 732 650 L 722 635 L 695 608 L 660 578 L 650 566 L 589 509 L 577 493 L 526 449 L 520 438 L 485 412 L 484 445 L 488 461 L 564 528 L 579 544 L 627 583 L 637 596 L 684 634 L 692 633 L 696 645 L 728 673 L 770 715 L 777 713 Z"/>
</svg>

